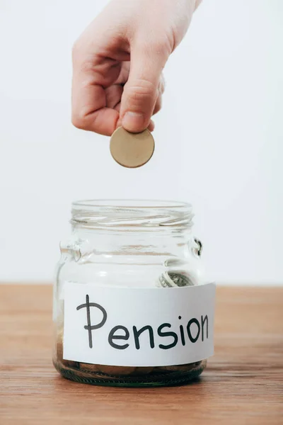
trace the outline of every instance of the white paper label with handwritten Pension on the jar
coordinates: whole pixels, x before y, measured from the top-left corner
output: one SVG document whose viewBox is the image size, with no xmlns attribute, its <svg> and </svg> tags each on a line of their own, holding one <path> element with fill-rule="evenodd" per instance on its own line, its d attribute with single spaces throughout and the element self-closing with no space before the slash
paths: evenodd
<svg viewBox="0 0 283 425">
<path fill-rule="evenodd" d="M 117 366 L 193 363 L 214 351 L 215 285 L 107 288 L 67 283 L 66 360 Z"/>
</svg>

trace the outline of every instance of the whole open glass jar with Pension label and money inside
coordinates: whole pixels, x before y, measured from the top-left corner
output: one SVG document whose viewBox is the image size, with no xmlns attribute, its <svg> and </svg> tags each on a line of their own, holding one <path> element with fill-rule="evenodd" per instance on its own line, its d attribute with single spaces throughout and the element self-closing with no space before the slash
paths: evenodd
<svg viewBox="0 0 283 425">
<path fill-rule="evenodd" d="M 53 303 L 53 363 L 65 378 L 156 386 L 202 373 L 213 350 L 214 288 L 207 301 L 192 217 L 179 202 L 73 203 Z"/>
</svg>

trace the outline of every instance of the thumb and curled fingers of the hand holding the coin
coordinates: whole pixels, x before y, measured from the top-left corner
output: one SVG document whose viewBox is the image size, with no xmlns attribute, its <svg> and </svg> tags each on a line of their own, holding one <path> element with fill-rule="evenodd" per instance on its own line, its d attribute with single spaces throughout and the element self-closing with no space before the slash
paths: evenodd
<svg viewBox="0 0 283 425">
<path fill-rule="evenodd" d="M 168 52 L 160 45 L 134 45 L 129 73 L 128 62 L 75 52 L 72 123 L 103 135 L 112 135 L 121 123 L 132 132 L 152 131 L 151 115 L 161 109 L 161 72 L 167 59 Z"/>
</svg>

